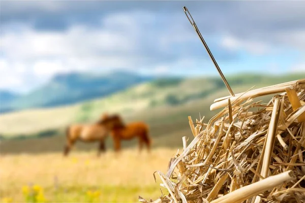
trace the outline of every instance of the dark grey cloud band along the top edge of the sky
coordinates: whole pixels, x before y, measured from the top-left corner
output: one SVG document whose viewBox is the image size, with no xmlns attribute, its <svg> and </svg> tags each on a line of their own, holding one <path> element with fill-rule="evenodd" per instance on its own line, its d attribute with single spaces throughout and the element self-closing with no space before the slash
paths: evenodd
<svg viewBox="0 0 305 203">
<path fill-rule="evenodd" d="M 2 3 L 2 23 L 32 22 L 37 29 L 50 26 L 67 29 L 75 23 L 97 24 L 97 16 L 130 12 L 154 13 L 159 23 L 176 22 L 190 26 L 182 7 L 187 6 L 204 33 L 229 32 L 237 37 L 256 38 L 265 33 L 304 27 L 303 1 L 40 1 Z M 162 19 L 163 18 L 163 19 Z M 64 26 L 62 25 L 65 22 Z M 272 36 L 265 36 L 272 39 Z"/>
</svg>

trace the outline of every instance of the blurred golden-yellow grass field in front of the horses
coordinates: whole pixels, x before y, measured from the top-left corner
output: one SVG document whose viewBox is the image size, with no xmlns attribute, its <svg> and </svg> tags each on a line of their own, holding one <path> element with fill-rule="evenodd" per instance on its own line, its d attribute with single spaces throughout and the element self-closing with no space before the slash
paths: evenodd
<svg viewBox="0 0 305 203">
<path fill-rule="evenodd" d="M 153 173 L 166 172 L 175 153 L 159 148 L 150 154 L 124 150 L 117 157 L 109 151 L 100 158 L 95 151 L 67 158 L 59 153 L 2 155 L 1 197 L 24 202 L 22 187 L 37 184 L 49 202 L 87 202 L 88 191 L 101 193 L 96 202 L 138 202 L 138 195 L 154 199 L 161 192 Z"/>
</svg>

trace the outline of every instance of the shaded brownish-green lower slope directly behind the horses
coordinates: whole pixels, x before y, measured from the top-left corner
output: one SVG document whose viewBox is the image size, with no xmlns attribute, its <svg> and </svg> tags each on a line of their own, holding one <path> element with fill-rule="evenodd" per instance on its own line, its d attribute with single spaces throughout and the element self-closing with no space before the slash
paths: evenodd
<svg viewBox="0 0 305 203">
<path fill-rule="evenodd" d="M 213 98 L 206 98 L 204 101 L 197 100 L 183 106 L 158 107 L 154 110 L 139 111 L 134 114 L 133 119 L 141 118 L 141 120 L 149 124 L 150 135 L 153 139 L 153 148 L 177 148 L 182 146 L 182 137 L 187 136 L 190 141 L 192 140 L 188 116 L 192 116 L 195 121 L 196 118 L 199 119 L 200 113 L 201 116 L 205 116 L 204 121 L 208 122 L 218 112 L 207 111 L 212 100 Z M 2 154 L 62 152 L 66 142 L 65 139 L 64 131 L 59 130 L 56 136 L 2 140 L 0 150 Z M 123 148 L 131 148 L 137 144 L 138 141 L 136 139 L 123 141 Z M 74 151 L 87 151 L 92 149 L 96 150 L 98 145 L 97 143 L 88 144 L 78 142 L 75 147 L 76 149 Z M 106 147 L 107 149 L 113 149 L 113 143 L 110 137 L 107 139 Z"/>
</svg>

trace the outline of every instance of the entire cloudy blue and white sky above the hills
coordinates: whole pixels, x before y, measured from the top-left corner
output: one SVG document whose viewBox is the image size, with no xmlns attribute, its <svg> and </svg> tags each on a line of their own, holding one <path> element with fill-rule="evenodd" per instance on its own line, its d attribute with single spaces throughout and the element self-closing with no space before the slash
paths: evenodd
<svg viewBox="0 0 305 203">
<path fill-rule="evenodd" d="M 0 88 L 69 72 L 218 75 L 184 6 L 224 75 L 305 70 L 305 1 L 1 1 Z"/>
</svg>

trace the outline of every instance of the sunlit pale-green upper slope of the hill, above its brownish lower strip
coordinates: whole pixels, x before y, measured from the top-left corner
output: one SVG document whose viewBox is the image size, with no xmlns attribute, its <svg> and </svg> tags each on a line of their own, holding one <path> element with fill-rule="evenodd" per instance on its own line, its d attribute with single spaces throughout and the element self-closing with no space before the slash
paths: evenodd
<svg viewBox="0 0 305 203">
<path fill-rule="evenodd" d="M 301 78 L 300 75 L 272 77 L 243 74 L 228 77 L 228 82 L 236 93 L 254 85 L 258 88 Z M 183 116 L 197 112 L 196 118 L 199 112 L 210 115 L 212 100 L 225 95 L 228 95 L 228 91 L 219 77 L 164 78 L 75 105 L 5 114 L 0 118 L 0 128 L 2 136 L 15 137 L 62 128 L 73 122 L 91 122 L 103 112 L 120 113 L 128 121 L 144 119 L 150 123 L 174 123 L 181 112 L 185 112 Z M 183 117 L 184 120 L 186 118 Z"/>
</svg>

